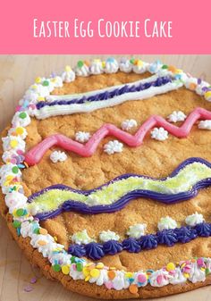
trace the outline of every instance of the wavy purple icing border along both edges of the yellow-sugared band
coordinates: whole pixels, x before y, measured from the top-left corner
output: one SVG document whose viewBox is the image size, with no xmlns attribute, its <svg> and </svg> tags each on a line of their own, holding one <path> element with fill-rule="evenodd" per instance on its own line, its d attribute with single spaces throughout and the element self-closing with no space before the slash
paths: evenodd
<svg viewBox="0 0 211 301">
<path fill-rule="evenodd" d="M 205 159 L 202 158 L 197 158 L 197 157 L 192 157 L 189 158 L 185 161 L 183 161 L 174 171 L 171 173 L 170 176 L 165 177 L 160 180 L 166 180 L 167 178 L 173 178 L 179 171 L 181 171 L 185 166 L 191 164 L 191 163 L 203 163 L 206 164 L 209 168 L 211 168 L 211 163 L 207 162 Z M 90 189 L 90 190 L 77 190 L 74 188 L 70 188 L 68 186 L 65 186 L 63 184 L 57 184 L 50 186 L 48 188 L 42 189 L 38 191 L 37 193 L 31 195 L 28 199 L 28 201 L 31 203 L 33 200 L 42 194 L 44 194 L 46 191 L 51 190 L 51 189 L 66 189 L 70 190 L 72 192 L 76 192 L 85 196 L 89 196 L 90 193 L 100 190 L 101 188 L 108 186 L 110 183 L 113 183 L 116 180 L 123 180 L 123 179 L 128 179 L 130 177 L 142 177 L 145 179 L 152 179 L 152 180 L 157 180 L 155 178 L 147 177 L 147 176 L 140 176 L 137 174 L 132 174 L 132 173 L 126 173 L 123 174 L 114 180 L 110 180 L 109 182 L 105 183 L 104 185 L 95 188 L 95 189 Z M 79 213 L 86 213 L 86 214 L 97 214 L 97 213 L 114 213 L 115 211 L 121 210 L 125 205 L 127 205 L 132 199 L 138 198 L 138 197 L 146 197 L 146 198 L 151 198 L 153 200 L 156 200 L 161 203 L 165 203 L 167 205 L 169 204 L 174 204 L 178 203 L 180 201 L 188 200 L 194 196 L 198 195 L 198 190 L 201 188 L 206 188 L 211 185 L 211 178 L 207 178 L 205 180 L 200 180 L 198 183 L 196 183 L 189 191 L 186 192 L 181 192 L 178 194 L 163 194 L 163 193 L 158 193 L 150 190 L 144 190 L 144 189 L 136 189 L 133 190 L 126 195 L 122 196 L 118 201 L 116 201 L 112 205 L 93 205 L 89 206 L 77 201 L 72 201 L 68 200 L 63 203 L 59 208 L 57 208 L 55 211 L 52 212 L 46 212 L 46 213 L 38 213 L 36 217 L 44 221 L 49 218 L 53 218 L 56 215 L 66 212 L 66 211 L 74 211 L 74 212 L 79 212 Z"/>
</svg>

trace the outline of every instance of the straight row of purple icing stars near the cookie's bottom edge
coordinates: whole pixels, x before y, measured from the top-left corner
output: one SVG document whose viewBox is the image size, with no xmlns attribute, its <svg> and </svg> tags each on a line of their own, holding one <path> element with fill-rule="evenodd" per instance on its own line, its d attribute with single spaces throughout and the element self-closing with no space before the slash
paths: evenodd
<svg viewBox="0 0 211 301">
<path fill-rule="evenodd" d="M 176 243 L 188 243 L 195 238 L 208 238 L 211 236 L 211 223 L 201 222 L 194 227 L 181 226 L 181 228 L 157 231 L 136 238 L 125 238 L 122 242 L 108 240 L 105 243 L 90 242 L 86 245 L 72 244 L 68 253 L 77 257 L 86 256 L 93 260 L 99 260 L 105 255 L 115 255 L 122 251 L 139 253 L 143 250 L 150 250 L 165 245 L 173 247 Z"/>
</svg>

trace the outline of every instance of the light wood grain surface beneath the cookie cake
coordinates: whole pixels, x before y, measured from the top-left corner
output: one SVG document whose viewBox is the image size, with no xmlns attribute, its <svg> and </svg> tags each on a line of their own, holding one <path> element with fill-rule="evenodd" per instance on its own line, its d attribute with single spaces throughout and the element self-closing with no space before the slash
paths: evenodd
<svg viewBox="0 0 211 301">
<path fill-rule="evenodd" d="M 99 58 L 107 56 L 93 55 Z M 211 55 L 136 56 L 147 62 L 158 58 L 163 63 L 173 64 L 194 76 L 211 82 Z M 90 57 L 91 55 L 0 55 L 0 130 L 3 130 L 11 121 L 18 100 L 37 76 L 48 76 L 52 71 L 62 71 L 66 64 L 74 66 L 79 59 Z M 37 282 L 31 284 L 30 280 L 34 277 Z M 210 301 L 210 296 L 211 286 L 157 300 Z M 73 294 L 64 289 L 60 283 L 46 280 L 36 268 L 31 267 L 13 241 L 5 222 L 0 218 L 0 301 L 59 300 L 89 301 L 93 299 Z M 153 300 L 156 299 L 151 299 Z"/>
</svg>

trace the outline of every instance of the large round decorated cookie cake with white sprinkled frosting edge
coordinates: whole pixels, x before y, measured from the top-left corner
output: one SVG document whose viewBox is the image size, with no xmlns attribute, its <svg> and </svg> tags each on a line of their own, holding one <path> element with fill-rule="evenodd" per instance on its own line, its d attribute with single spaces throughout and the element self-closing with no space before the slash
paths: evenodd
<svg viewBox="0 0 211 301">
<path fill-rule="evenodd" d="M 211 87 L 160 62 L 38 78 L 2 133 L 0 208 L 30 262 L 97 298 L 211 284 Z"/>
</svg>

